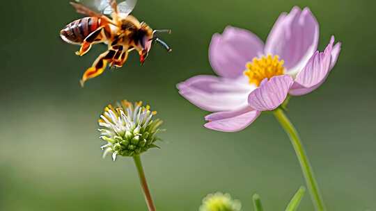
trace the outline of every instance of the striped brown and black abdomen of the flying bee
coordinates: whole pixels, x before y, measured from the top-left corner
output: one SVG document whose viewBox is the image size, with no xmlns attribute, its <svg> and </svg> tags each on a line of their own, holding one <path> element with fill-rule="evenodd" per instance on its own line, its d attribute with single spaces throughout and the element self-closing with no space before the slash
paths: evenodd
<svg viewBox="0 0 376 211">
<path fill-rule="evenodd" d="M 88 35 L 100 27 L 100 24 L 100 17 L 84 17 L 65 26 L 60 36 L 70 44 L 81 44 Z"/>
</svg>

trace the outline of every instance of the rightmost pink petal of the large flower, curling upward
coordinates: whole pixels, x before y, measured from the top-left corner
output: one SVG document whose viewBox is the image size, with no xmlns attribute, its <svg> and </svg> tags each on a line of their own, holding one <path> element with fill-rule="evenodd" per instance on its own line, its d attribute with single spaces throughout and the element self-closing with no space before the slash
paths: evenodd
<svg viewBox="0 0 376 211">
<path fill-rule="evenodd" d="M 324 83 L 332 67 L 336 64 L 336 60 L 340 53 L 340 43 L 336 44 L 335 47 L 333 47 L 333 44 L 334 36 L 331 37 L 324 52 L 316 52 L 313 54 L 306 64 L 306 67 L 297 74 L 295 83 L 291 87 L 290 94 L 308 94 Z"/>
</svg>

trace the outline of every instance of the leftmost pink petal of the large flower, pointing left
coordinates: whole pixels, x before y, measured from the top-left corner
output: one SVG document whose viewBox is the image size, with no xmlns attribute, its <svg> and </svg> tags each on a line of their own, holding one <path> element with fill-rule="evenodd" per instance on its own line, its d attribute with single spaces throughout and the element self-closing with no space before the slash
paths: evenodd
<svg viewBox="0 0 376 211">
<path fill-rule="evenodd" d="M 248 105 L 248 94 L 254 89 L 244 78 L 194 76 L 179 83 L 178 90 L 185 99 L 203 110 L 235 110 Z"/>
</svg>

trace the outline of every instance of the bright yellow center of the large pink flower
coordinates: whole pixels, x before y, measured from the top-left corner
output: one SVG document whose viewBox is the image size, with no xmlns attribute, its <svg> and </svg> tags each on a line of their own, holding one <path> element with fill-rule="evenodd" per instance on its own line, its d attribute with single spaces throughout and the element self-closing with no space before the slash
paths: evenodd
<svg viewBox="0 0 376 211">
<path fill-rule="evenodd" d="M 279 60 L 279 56 L 253 58 L 252 62 L 246 63 L 244 75 L 248 76 L 249 83 L 259 86 L 265 78 L 269 80 L 273 76 L 283 75 L 285 72 L 283 63 L 283 60 Z"/>
</svg>

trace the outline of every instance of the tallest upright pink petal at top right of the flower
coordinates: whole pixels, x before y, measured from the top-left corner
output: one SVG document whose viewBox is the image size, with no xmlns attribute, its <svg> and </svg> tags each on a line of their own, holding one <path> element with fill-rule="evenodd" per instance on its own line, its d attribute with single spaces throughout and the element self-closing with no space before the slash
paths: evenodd
<svg viewBox="0 0 376 211">
<path fill-rule="evenodd" d="M 311 10 L 292 8 L 282 13 L 267 37 L 265 53 L 285 60 L 285 68 L 295 71 L 304 67 L 318 48 L 319 26 Z"/>
</svg>

